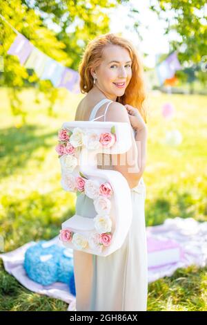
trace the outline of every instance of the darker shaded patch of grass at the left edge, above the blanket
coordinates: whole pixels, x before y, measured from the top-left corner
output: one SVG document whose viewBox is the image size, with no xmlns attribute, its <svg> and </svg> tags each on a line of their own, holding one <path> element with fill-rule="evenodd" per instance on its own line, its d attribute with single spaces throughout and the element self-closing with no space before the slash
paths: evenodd
<svg viewBox="0 0 207 325">
<path fill-rule="evenodd" d="M 48 149 L 52 146 L 46 140 L 56 136 L 57 132 L 41 135 L 42 131 L 42 127 L 29 124 L 20 129 L 15 127 L 0 129 L 1 177 L 9 176 L 16 169 L 22 169 L 34 150 L 39 147 Z M 40 135 L 37 136 L 37 133 Z"/>
</svg>

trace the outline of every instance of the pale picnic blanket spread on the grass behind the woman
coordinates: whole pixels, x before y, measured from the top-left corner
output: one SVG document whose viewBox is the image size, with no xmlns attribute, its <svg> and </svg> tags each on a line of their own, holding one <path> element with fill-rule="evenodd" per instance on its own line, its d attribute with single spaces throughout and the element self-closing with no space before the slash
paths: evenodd
<svg viewBox="0 0 207 325">
<path fill-rule="evenodd" d="M 197 222 L 193 218 L 181 219 L 176 217 L 175 219 L 166 219 L 162 225 L 147 227 L 146 230 L 147 236 L 157 237 L 158 239 L 173 239 L 184 250 L 184 257 L 178 263 L 149 268 L 148 282 L 165 276 L 169 277 L 177 268 L 186 268 L 193 264 L 199 267 L 207 265 L 207 222 Z M 75 310 L 75 296 L 70 293 L 67 284 L 55 282 L 50 286 L 42 286 L 26 275 L 23 268 L 24 254 L 30 245 L 35 243 L 35 241 L 30 241 L 30 243 L 26 243 L 12 252 L 0 254 L 5 270 L 29 290 L 66 301 L 69 305 L 68 310 Z M 58 236 L 48 243 L 61 245 Z"/>
</svg>

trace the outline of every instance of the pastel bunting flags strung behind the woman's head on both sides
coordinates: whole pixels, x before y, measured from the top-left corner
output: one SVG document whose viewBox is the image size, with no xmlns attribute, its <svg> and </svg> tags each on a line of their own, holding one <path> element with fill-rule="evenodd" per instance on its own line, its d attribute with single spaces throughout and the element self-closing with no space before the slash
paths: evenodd
<svg viewBox="0 0 207 325">
<path fill-rule="evenodd" d="M 79 73 L 71 68 L 63 66 L 55 59 L 52 59 L 41 50 L 36 48 L 25 36 L 18 32 L 0 14 L 0 17 L 16 32 L 17 37 L 8 50 L 8 54 L 17 55 L 19 62 L 26 68 L 34 69 L 41 80 L 50 80 L 55 87 L 65 87 L 73 93 L 80 93 Z M 171 53 L 161 63 L 155 66 L 153 71 L 147 71 L 148 82 L 159 84 L 159 86 L 177 82 L 175 72 L 181 69 L 177 58 L 177 51 Z"/>
</svg>

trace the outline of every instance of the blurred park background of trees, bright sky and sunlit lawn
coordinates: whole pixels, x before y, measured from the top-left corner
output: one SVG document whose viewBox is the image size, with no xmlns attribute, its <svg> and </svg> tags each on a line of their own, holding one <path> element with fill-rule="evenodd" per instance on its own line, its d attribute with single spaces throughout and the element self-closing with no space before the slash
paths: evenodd
<svg viewBox="0 0 207 325">
<path fill-rule="evenodd" d="M 8 54 L 15 30 L 73 71 L 96 35 L 117 32 L 131 39 L 143 56 L 148 86 L 146 225 L 176 216 L 207 221 L 205 1 L 0 0 L 0 14 L 0 234 L 5 252 L 57 236 L 61 223 L 75 214 L 75 194 L 60 185 L 55 145 L 62 122 L 74 120 L 84 96 L 41 80 Z M 181 69 L 160 82 L 156 66 L 174 51 Z M 173 109 L 168 118 L 166 104 Z M 177 132 L 170 140 L 169 130 Z M 149 285 L 148 310 L 206 310 L 206 289 L 207 268 L 181 268 Z M 0 310 L 66 308 L 59 299 L 21 286 L 1 261 Z"/>
</svg>

